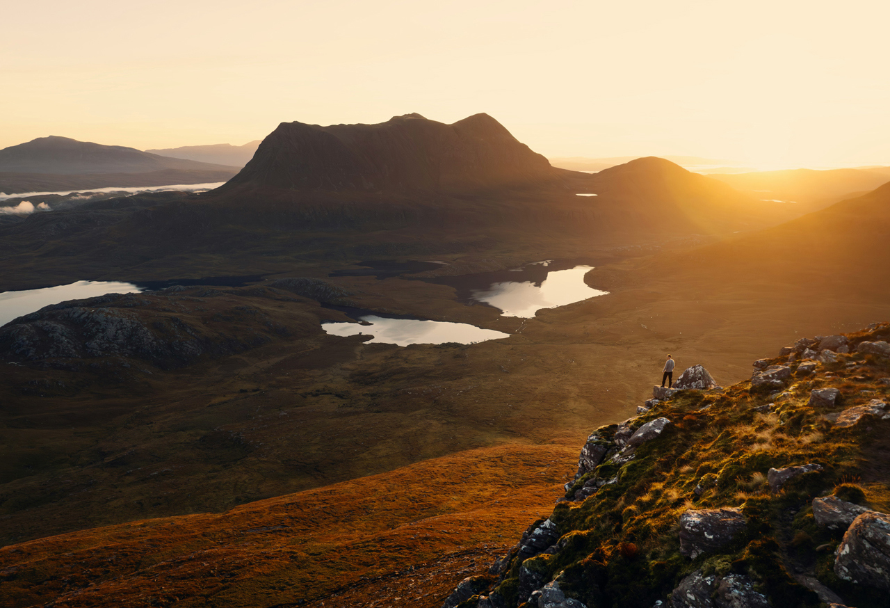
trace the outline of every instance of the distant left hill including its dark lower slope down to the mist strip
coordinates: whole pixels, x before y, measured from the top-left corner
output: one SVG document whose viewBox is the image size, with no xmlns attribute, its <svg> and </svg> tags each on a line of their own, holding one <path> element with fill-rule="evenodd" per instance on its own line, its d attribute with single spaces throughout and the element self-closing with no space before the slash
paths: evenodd
<svg viewBox="0 0 890 608">
<path fill-rule="evenodd" d="M 57 136 L 0 150 L 0 192 L 6 194 L 224 182 L 237 171 Z"/>
</svg>

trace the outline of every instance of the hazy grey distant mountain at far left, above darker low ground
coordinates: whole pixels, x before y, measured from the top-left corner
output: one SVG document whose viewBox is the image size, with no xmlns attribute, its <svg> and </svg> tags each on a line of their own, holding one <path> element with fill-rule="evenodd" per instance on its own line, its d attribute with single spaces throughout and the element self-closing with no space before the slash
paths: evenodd
<svg viewBox="0 0 890 608">
<path fill-rule="evenodd" d="M 149 173 L 165 169 L 231 169 L 195 160 L 167 158 L 125 146 L 38 137 L 0 150 L 0 171 L 41 174 Z"/>
</svg>

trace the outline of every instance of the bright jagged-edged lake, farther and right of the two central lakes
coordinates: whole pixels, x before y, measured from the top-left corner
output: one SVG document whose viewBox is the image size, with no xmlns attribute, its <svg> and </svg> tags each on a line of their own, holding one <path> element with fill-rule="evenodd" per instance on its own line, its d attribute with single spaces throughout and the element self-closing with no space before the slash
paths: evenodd
<svg viewBox="0 0 890 608">
<path fill-rule="evenodd" d="M 566 271 L 549 272 L 540 287 L 531 281 L 494 283 L 488 289 L 473 291 L 473 299 L 499 308 L 505 317 L 529 319 L 542 308 L 555 308 L 608 294 L 608 291 L 587 287 L 584 275 L 591 269 L 593 266 L 575 266 Z"/>
</svg>

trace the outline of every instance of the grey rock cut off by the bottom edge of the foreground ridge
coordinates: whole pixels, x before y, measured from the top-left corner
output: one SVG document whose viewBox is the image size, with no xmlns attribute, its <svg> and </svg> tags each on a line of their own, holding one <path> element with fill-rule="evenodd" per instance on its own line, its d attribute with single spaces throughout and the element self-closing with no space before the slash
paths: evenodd
<svg viewBox="0 0 890 608">
<path fill-rule="evenodd" d="M 671 594 L 671 608 L 768 608 L 766 596 L 742 574 L 704 576 L 692 572 Z"/>
</svg>

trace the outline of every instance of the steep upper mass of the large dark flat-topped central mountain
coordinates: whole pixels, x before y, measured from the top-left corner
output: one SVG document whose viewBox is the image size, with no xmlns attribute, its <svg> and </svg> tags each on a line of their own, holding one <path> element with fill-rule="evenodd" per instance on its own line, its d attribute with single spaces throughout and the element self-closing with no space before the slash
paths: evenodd
<svg viewBox="0 0 890 608">
<path fill-rule="evenodd" d="M 487 114 L 452 125 L 408 114 L 378 125 L 281 123 L 221 191 L 466 191 L 559 175 Z"/>
</svg>

